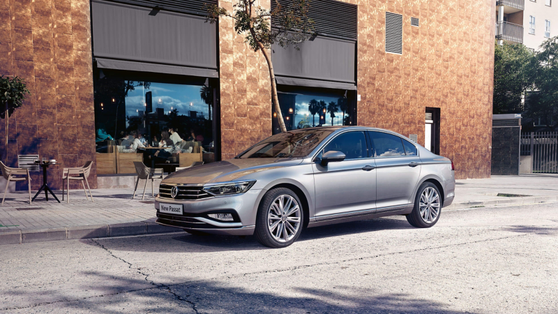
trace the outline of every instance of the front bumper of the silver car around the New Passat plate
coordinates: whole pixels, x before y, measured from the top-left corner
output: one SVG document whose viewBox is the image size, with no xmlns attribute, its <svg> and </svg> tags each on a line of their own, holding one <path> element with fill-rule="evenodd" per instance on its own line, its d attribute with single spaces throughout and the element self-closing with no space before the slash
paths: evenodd
<svg viewBox="0 0 558 314">
<path fill-rule="evenodd" d="M 213 234 L 251 235 L 254 233 L 257 204 L 262 190 L 248 190 L 238 195 L 225 195 L 201 200 L 173 200 L 156 197 L 156 223 L 182 229 L 199 230 Z M 182 204 L 183 214 L 160 213 L 159 204 Z M 207 214 L 232 214 L 234 221 L 209 218 Z"/>
</svg>

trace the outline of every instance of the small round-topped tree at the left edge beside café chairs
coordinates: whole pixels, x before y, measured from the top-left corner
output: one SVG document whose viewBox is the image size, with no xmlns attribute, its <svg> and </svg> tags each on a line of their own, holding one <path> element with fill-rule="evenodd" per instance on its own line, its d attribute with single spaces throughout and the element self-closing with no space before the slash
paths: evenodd
<svg viewBox="0 0 558 314">
<path fill-rule="evenodd" d="M 0 103 L 2 105 L 0 117 L 6 119 L 6 147 L 4 147 L 4 161 L 8 163 L 8 118 L 13 114 L 16 108 L 23 105 L 26 94 L 31 94 L 27 89 L 24 80 L 20 77 L 0 76 Z"/>
</svg>

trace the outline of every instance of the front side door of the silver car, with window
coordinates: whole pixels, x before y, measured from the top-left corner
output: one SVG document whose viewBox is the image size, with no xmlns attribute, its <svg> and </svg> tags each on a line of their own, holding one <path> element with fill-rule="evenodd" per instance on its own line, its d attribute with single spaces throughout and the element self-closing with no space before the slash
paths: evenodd
<svg viewBox="0 0 558 314">
<path fill-rule="evenodd" d="M 345 160 L 322 166 L 319 160 L 327 151 L 341 151 Z M 350 211 L 375 209 L 375 163 L 369 156 L 365 131 L 340 133 L 326 144 L 316 159 L 312 167 L 318 220 Z"/>
</svg>

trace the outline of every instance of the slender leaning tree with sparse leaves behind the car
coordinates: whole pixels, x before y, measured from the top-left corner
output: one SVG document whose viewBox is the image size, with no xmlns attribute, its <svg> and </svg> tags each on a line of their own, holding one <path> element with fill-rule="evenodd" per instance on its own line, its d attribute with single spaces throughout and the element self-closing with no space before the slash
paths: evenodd
<svg viewBox="0 0 558 314">
<path fill-rule="evenodd" d="M 231 17 L 234 20 L 234 31 L 239 35 L 244 35 L 244 42 L 250 45 L 254 52 L 262 52 L 266 59 L 271 80 L 271 96 L 273 105 L 277 113 L 277 119 L 281 132 L 286 132 L 285 121 L 279 106 L 277 96 L 277 85 L 273 63 L 268 49 L 271 45 L 278 44 L 281 47 L 294 45 L 298 50 L 298 45 L 310 39 L 314 33 L 314 21 L 307 16 L 311 0 L 292 0 L 289 6 L 283 8 L 278 0 L 275 10 L 265 10 L 255 4 L 256 0 L 237 0 L 232 6 L 233 12 L 228 12 L 225 8 L 220 8 L 216 4 L 205 5 L 209 16 L 207 20 L 213 24 L 219 17 Z M 271 27 L 271 17 L 277 19 L 277 25 Z"/>
</svg>

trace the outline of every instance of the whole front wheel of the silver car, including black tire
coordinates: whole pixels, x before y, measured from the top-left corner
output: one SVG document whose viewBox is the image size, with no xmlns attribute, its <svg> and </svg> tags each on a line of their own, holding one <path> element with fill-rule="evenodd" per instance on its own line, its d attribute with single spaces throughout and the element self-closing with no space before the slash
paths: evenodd
<svg viewBox="0 0 558 314">
<path fill-rule="evenodd" d="M 269 248 L 285 248 L 299 238 L 304 225 L 301 200 L 288 188 L 269 190 L 259 203 L 257 241 Z"/>
</svg>

